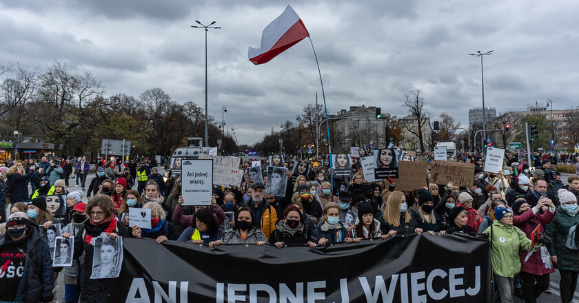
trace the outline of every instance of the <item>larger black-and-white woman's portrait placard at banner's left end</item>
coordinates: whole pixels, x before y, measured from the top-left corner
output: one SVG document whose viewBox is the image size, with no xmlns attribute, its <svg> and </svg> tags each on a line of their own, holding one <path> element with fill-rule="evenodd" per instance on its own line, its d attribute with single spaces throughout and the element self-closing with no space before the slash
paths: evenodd
<svg viewBox="0 0 579 303">
<path fill-rule="evenodd" d="M 96 238 L 91 279 L 118 277 L 122 263 L 123 237 L 116 237 L 114 240 L 108 236 Z"/>
</svg>

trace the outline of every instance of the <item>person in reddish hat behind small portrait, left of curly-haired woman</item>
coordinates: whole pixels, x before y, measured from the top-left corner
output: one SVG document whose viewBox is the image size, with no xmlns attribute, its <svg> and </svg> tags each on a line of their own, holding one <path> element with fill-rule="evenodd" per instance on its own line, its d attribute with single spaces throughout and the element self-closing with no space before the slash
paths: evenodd
<svg viewBox="0 0 579 303">
<path fill-rule="evenodd" d="M 74 193 L 75 191 L 73 191 Z M 81 191 L 78 191 L 81 192 Z M 72 194 L 72 193 L 71 193 Z M 70 194 L 69 194 L 70 195 Z M 61 233 L 64 238 L 70 238 L 70 236 L 77 235 L 81 226 L 88 219 L 86 216 L 86 205 L 84 202 L 77 202 L 72 207 L 70 211 L 70 216 L 72 218 L 71 222 L 68 223 Z M 64 274 L 64 298 L 66 302 L 79 302 L 79 297 L 81 295 L 81 286 L 79 284 L 79 271 L 80 267 L 84 262 L 84 256 L 79 258 L 79 262 L 72 262 L 70 267 L 63 268 Z M 79 267 L 80 266 L 80 267 Z"/>
</svg>

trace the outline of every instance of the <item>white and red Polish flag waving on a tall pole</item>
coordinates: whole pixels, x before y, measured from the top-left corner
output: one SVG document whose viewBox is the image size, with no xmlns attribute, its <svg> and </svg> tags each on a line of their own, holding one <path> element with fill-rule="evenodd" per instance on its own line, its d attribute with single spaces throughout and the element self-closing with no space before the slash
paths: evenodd
<svg viewBox="0 0 579 303">
<path fill-rule="evenodd" d="M 283 13 L 272 23 L 268 24 L 261 34 L 261 47 L 252 48 L 247 55 L 255 65 L 266 63 L 291 48 L 309 33 L 300 17 L 291 6 L 287 6 Z"/>
</svg>

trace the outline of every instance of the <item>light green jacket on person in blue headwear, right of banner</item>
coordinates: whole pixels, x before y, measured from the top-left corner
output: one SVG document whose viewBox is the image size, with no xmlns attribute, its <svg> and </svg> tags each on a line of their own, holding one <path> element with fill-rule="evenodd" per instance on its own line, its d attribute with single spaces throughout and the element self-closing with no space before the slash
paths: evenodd
<svg viewBox="0 0 579 303">
<path fill-rule="evenodd" d="M 495 220 L 483 233 L 491 240 L 491 261 L 493 273 L 501 277 L 513 278 L 520 271 L 520 249 L 531 249 L 531 240 L 514 225 L 502 224 Z"/>
</svg>

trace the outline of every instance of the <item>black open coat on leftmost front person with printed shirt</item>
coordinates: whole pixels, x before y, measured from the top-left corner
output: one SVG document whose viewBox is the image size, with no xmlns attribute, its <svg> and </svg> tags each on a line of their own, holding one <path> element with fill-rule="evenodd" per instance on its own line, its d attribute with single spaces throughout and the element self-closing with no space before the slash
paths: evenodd
<svg viewBox="0 0 579 303">
<path fill-rule="evenodd" d="M 26 241 L 26 261 L 24 271 L 18 286 L 17 302 L 41 302 L 43 297 L 51 297 L 54 289 L 54 272 L 52 258 L 48 249 L 48 240 L 40 233 L 39 226 L 30 222 Z M 0 235 L 0 251 L 10 245 L 12 239 Z M 8 244 L 7 244 L 8 243 Z"/>
</svg>

